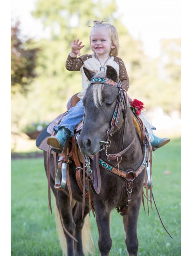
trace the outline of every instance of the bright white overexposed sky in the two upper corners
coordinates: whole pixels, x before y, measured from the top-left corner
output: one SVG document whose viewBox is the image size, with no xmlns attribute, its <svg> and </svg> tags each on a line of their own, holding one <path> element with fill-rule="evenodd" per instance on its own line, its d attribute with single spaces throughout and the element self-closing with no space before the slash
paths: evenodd
<svg viewBox="0 0 192 256">
<path fill-rule="evenodd" d="M 11 16 L 19 18 L 23 34 L 38 38 L 46 34 L 42 32 L 40 21 L 34 20 L 30 14 L 35 9 L 35 2 L 36 0 L 11 0 Z M 151 57 L 158 57 L 161 38 L 181 37 L 180 0 L 116 2 L 122 22 L 135 39 L 142 39 L 145 53 Z"/>
</svg>

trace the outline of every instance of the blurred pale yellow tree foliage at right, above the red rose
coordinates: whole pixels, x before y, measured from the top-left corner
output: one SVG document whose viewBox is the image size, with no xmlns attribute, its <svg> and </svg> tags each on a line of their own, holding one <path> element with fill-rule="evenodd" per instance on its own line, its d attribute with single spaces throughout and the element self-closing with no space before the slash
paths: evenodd
<svg viewBox="0 0 192 256">
<path fill-rule="evenodd" d="M 158 58 L 144 58 L 134 72 L 130 96 L 145 103 L 147 111 L 161 107 L 164 112 L 181 111 L 181 39 L 162 39 Z M 133 70 L 134 71 L 134 70 Z M 137 76 L 138 74 L 138 76 Z"/>
</svg>

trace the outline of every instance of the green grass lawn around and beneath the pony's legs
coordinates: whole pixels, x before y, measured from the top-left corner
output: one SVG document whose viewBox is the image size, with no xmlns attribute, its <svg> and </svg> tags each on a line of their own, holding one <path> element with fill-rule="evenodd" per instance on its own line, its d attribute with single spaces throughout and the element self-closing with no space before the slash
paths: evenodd
<svg viewBox="0 0 192 256">
<path fill-rule="evenodd" d="M 154 152 L 156 159 L 153 157 L 152 168 L 155 201 L 173 239 L 162 227 L 154 204 L 149 216 L 141 206 L 138 220 L 138 255 L 181 255 L 180 149 L 180 139 L 172 139 L 166 146 Z M 98 256 L 98 231 L 92 214 L 90 220 L 95 256 Z M 115 210 L 111 215 L 111 238 L 113 244 L 110 256 L 127 255 L 122 217 Z M 54 214 L 48 215 L 47 178 L 42 158 L 11 160 L 11 255 L 62 255 Z"/>
</svg>

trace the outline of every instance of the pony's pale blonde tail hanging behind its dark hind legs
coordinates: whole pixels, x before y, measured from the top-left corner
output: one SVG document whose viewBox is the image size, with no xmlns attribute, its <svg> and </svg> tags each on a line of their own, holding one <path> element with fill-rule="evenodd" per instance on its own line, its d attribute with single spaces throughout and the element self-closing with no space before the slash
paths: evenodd
<svg viewBox="0 0 192 256">
<path fill-rule="evenodd" d="M 71 205 L 73 207 L 75 206 L 75 202 L 76 201 L 74 199 L 72 199 Z M 60 214 L 59 214 L 59 210 L 57 208 L 56 201 L 55 201 L 54 209 L 55 209 L 55 221 L 56 221 L 60 246 L 62 248 L 63 256 L 66 256 L 67 255 L 66 238 L 65 238 L 64 231 L 63 231 L 62 223 L 60 221 Z M 85 223 L 84 223 L 83 228 L 82 228 L 82 246 L 83 246 L 84 254 L 86 256 L 88 254 L 89 255 L 95 255 L 95 247 L 94 247 L 94 242 L 92 240 L 91 225 L 90 225 L 90 220 L 89 220 L 89 215 L 88 214 L 85 217 Z"/>
</svg>

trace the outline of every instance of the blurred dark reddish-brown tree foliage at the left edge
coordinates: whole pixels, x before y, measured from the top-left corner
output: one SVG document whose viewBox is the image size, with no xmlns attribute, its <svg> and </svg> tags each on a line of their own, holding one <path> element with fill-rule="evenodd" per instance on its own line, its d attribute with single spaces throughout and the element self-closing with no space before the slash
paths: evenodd
<svg viewBox="0 0 192 256">
<path fill-rule="evenodd" d="M 32 40 L 21 39 L 20 22 L 11 26 L 11 92 L 26 93 L 28 85 L 35 77 L 36 54 Z"/>
</svg>

